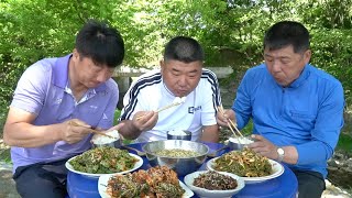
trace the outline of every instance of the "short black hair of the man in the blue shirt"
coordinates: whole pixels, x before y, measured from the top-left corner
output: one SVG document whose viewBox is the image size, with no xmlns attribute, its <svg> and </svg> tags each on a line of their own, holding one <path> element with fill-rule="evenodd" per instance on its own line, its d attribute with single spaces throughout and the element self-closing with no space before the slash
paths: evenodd
<svg viewBox="0 0 352 198">
<path fill-rule="evenodd" d="M 298 22 L 282 21 L 271 26 L 264 37 L 264 48 L 279 50 L 293 45 L 295 53 L 309 48 L 309 32 Z"/>
</svg>

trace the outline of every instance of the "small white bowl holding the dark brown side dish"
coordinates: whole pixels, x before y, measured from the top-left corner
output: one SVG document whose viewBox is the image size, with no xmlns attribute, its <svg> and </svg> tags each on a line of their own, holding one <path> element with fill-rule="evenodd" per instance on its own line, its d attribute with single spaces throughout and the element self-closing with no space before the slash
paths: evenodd
<svg viewBox="0 0 352 198">
<path fill-rule="evenodd" d="M 242 188 L 244 188 L 244 180 L 243 178 L 226 172 L 218 172 L 219 174 L 229 175 L 230 177 L 237 179 L 238 187 L 235 189 L 231 190 L 209 190 L 206 188 L 200 188 L 197 186 L 194 186 L 194 180 L 197 178 L 200 174 L 207 173 L 209 170 L 199 170 L 194 172 L 191 174 L 188 174 L 185 176 L 185 184 L 188 186 L 189 189 L 191 189 L 194 193 L 196 193 L 199 197 L 202 198 L 226 198 L 226 197 L 232 197 L 233 195 L 238 194 Z"/>
</svg>

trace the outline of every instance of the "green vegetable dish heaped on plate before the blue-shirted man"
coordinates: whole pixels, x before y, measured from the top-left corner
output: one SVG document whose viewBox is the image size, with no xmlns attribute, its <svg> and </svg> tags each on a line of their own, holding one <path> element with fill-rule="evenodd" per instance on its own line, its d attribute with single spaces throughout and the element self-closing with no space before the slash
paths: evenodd
<svg viewBox="0 0 352 198">
<path fill-rule="evenodd" d="M 272 164 L 264 156 L 250 148 L 232 151 L 215 161 L 212 167 L 219 172 L 228 172 L 240 177 L 263 177 L 272 174 Z"/>
</svg>

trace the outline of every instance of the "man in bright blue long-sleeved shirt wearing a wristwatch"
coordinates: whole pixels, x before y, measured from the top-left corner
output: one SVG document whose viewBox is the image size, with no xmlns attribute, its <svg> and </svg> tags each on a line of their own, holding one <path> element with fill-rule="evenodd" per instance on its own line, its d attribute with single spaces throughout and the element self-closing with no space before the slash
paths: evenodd
<svg viewBox="0 0 352 198">
<path fill-rule="evenodd" d="M 311 65 L 309 33 L 292 21 L 274 24 L 264 37 L 265 63 L 244 75 L 227 118 L 240 129 L 252 118 L 255 142 L 249 147 L 286 164 L 298 179 L 299 197 L 320 197 L 327 161 L 343 125 L 343 88 Z"/>
</svg>

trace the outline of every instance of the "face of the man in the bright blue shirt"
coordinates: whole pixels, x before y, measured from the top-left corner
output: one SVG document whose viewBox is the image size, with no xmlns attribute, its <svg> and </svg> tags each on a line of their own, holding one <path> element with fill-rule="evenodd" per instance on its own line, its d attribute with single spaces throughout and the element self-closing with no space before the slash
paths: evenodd
<svg viewBox="0 0 352 198">
<path fill-rule="evenodd" d="M 283 87 L 289 86 L 299 77 L 305 65 L 309 63 L 310 56 L 309 50 L 295 53 L 292 45 L 274 51 L 268 51 L 267 47 L 264 50 L 266 68 Z"/>
</svg>

